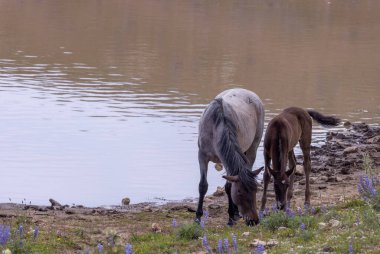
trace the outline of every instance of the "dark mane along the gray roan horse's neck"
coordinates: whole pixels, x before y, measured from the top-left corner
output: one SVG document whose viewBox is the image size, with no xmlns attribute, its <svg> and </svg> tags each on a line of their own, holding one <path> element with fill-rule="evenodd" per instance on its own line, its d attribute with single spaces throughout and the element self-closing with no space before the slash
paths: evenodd
<svg viewBox="0 0 380 254">
<path fill-rule="evenodd" d="M 240 181 L 248 189 L 256 189 L 257 182 L 253 172 L 248 168 L 248 159 L 240 149 L 237 139 L 237 128 L 234 122 L 224 112 L 236 114 L 235 111 L 228 105 L 223 106 L 223 99 L 217 98 L 213 100 L 209 108 L 211 118 L 215 123 L 215 127 L 223 124 L 222 134 L 218 141 L 218 150 L 220 158 L 224 164 L 227 175 L 238 175 Z"/>
</svg>

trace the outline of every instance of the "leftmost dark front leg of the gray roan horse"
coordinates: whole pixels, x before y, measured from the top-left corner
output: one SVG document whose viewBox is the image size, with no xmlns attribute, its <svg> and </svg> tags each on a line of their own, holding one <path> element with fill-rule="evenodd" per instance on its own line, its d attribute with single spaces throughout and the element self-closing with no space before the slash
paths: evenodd
<svg viewBox="0 0 380 254">
<path fill-rule="evenodd" d="M 207 189 L 208 189 L 208 183 L 207 183 L 207 166 L 209 160 L 206 158 L 206 156 L 198 152 L 198 162 L 199 162 L 199 169 L 201 173 L 201 179 L 199 181 L 199 200 L 198 200 L 198 209 L 196 212 L 195 222 L 200 222 L 201 217 L 203 215 L 203 200 L 206 195 Z"/>
</svg>

